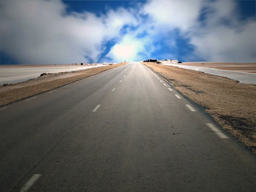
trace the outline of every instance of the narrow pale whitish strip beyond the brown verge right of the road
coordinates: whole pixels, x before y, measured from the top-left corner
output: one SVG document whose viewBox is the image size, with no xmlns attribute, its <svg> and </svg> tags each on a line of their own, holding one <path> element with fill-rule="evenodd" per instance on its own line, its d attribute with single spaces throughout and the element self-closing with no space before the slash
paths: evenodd
<svg viewBox="0 0 256 192">
<path fill-rule="evenodd" d="M 194 67 L 194 66 L 187 66 L 187 65 L 180 65 L 180 64 L 163 64 L 163 65 L 175 66 L 175 67 L 180 67 L 180 68 L 195 70 L 195 71 L 202 71 L 204 73 L 234 79 L 234 80 L 240 81 L 241 83 L 256 84 L 256 74 L 254 73 L 218 70 L 218 69 L 212 69 L 212 68 L 206 68 L 206 67 Z"/>
</svg>

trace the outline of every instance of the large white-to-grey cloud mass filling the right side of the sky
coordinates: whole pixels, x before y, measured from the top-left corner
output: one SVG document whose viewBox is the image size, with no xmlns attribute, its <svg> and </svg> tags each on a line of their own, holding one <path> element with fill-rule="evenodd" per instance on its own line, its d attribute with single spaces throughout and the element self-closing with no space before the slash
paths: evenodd
<svg viewBox="0 0 256 192">
<path fill-rule="evenodd" d="M 201 26 L 198 18 L 203 8 L 207 15 Z M 151 26 L 156 28 L 151 34 L 163 35 L 172 42 L 176 37 L 166 34 L 179 29 L 184 38 L 191 39 L 195 52 L 184 59 L 256 62 L 256 21 L 240 21 L 238 9 L 232 0 L 152 0 L 142 13 L 151 17 Z"/>
</svg>

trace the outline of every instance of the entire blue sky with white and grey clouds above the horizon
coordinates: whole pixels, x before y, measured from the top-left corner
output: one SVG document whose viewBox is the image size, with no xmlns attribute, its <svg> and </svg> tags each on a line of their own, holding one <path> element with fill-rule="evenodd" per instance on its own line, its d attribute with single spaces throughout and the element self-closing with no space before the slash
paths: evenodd
<svg viewBox="0 0 256 192">
<path fill-rule="evenodd" d="M 0 0 L 0 5 L 0 64 L 256 62 L 255 0 Z"/>
</svg>

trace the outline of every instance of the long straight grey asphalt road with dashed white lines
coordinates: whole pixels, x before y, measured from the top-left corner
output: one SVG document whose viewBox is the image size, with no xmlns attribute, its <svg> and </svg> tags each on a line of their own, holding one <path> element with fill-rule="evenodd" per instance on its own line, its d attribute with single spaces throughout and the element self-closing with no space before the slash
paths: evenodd
<svg viewBox="0 0 256 192">
<path fill-rule="evenodd" d="M 256 156 L 134 62 L 0 108 L 0 191 L 255 191 Z"/>
</svg>

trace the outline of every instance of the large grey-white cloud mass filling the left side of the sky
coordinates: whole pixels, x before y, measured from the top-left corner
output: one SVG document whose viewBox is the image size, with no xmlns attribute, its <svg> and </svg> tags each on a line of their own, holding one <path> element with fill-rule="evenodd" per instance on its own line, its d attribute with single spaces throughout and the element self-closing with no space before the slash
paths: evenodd
<svg viewBox="0 0 256 192">
<path fill-rule="evenodd" d="M 104 43 L 119 36 L 125 24 L 137 21 L 127 10 L 107 15 L 73 12 L 66 15 L 60 0 L 1 1 L 1 51 L 20 63 L 75 63 L 96 61 Z"/>
</svg>

